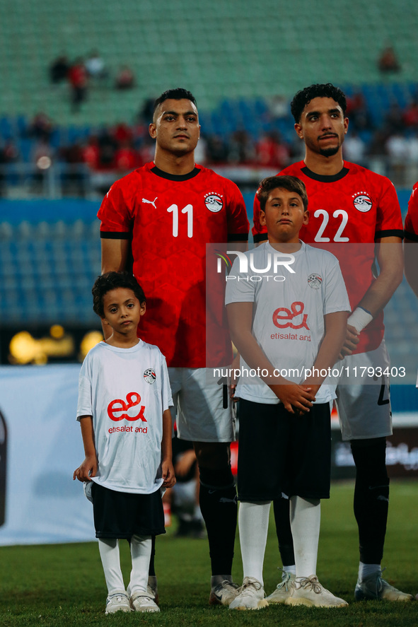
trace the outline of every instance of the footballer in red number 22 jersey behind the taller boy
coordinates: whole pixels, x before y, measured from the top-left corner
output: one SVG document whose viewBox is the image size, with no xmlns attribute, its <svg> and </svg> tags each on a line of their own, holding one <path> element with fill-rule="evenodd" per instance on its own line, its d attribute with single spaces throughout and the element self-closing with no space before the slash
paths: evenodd
<svg viewBox="0 0 418 627">
<path fill-rule="evenodd" d="M 356 464 L 354 514 L 360 563 L 354 596 L 356 600 L 410 601 L 411 594 L 381 577 L 389 496 L 385 436 L 392 433 L 388 377 L 376 377 L 375 385 L 370 385 L 373 381 L 354 376 L 355 367 L 361 364 L 380 365 L 382 372 L 389 365 L 382 310 L 402 281 L 402 218 L 395 189 L 387 178 L 344 162 L 342 143 L 349 125 L 346 109 L 344 93 L 330 83 L 296 93 L 291 112 L 296 134 L 305 143 L 305 158 L 280 174 L 299 177 L 306 184 L 310 221 L 301 230 L 301 239 L 327 247 L 339 259 L 353 310 L 341 352 L 349 376 L 339 377 L 337 408 L 342 438 L 350 441 Z M 256 198 L 256 243 L 266 240 L 258 214 Z M 378 274 L 373 271 L 375 257 Z M 274 501 L 285 583 L 295 563 L 288 503 L 284 498 Z M 267 597 L 269 604 L 286 602 L 288 588 L 281 582 Z"/>
</svg>

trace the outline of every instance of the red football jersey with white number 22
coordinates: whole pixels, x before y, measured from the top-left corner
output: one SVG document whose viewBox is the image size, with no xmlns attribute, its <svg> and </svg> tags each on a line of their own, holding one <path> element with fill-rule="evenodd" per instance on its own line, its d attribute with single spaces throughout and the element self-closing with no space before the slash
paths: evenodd
<svg viewBox="0 0 418 627">
<path fill-rule="evenodd" d="M 337 175 L 315 174 L 303 161 L 289 165 L 280 175 L 296 176 L 305 183 L 309 223 L 301 228 L 300 238 L 330 250 L 339 259 L 354 310 L 376 280 L 373 276 L 374 242 L 394 235 L 403 237 L 395 187 L 388 178 L 347 161 Z M 256 196 L 252 228 L 256 243 L 265 240 L 267 233 L 260 225 L 259 216 L 260 202 Z M 344 242 L 350 246 L 344 249 L 341 246 Z M 380 312 L 361 332 L 355 352 L 377 348 L 383 330 L 383 312 Z"/>
</svg>

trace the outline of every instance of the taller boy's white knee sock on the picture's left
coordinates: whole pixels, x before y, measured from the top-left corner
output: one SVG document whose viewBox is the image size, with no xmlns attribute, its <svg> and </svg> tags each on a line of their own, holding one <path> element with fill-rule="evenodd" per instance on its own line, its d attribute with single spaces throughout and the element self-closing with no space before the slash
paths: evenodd
<svg viewBox="0 0 418 627">
<path fill-rule="evenodd" d="M 262 564 L 269 528 L 270 505 L 271 501 L 240 503 L 238 511 L 244 577 L 253 577 L 262 584 L 264 584 Z"/>
</svg>

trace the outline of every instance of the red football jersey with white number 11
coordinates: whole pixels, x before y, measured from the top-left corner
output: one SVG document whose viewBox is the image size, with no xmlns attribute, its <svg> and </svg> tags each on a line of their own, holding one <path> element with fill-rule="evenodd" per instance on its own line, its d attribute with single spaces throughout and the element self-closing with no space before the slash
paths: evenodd
<svg viewBox="0 0 418 627">
<path fill-rule="evenodd" d="M 236 184 L 202 166 L 178 176 L 151 162 L 112 185 L 98 218 L 101 238 L 132 238 L 134 276 L 146 295 L 141 339 L 161 348 L 169 366 L 219 365 L 231 341 L 226 325 L 211 329 L 217 346 L 207 363 L 206 245 L 248 240 Z"/>
</svg>

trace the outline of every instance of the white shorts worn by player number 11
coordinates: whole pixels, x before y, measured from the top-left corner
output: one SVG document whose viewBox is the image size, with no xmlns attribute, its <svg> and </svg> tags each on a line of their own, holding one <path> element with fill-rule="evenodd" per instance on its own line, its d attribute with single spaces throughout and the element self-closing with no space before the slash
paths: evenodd
<svg viewBox="0 0 418 627">
<path fill-rule="evenodd" d="M 168 375 L 180 440 L 233 442 L 235 419 L 228 389 L 209 377 L 207 368 L 168 368 Z"/>
</svg>

